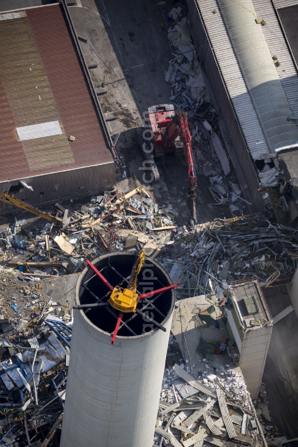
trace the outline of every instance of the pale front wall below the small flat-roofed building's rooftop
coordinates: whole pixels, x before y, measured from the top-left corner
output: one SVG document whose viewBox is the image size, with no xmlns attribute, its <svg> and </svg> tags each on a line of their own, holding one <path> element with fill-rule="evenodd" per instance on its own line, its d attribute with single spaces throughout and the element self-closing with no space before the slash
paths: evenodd
<svg viewBox="0 0 298 447">
<path fill-rule="evenodd" d="M 251 399 L 256 399 L 259 394 L 271 333 L 272 325 L 249 329 L 244 333 L 239 366 Z"/>
</svg>

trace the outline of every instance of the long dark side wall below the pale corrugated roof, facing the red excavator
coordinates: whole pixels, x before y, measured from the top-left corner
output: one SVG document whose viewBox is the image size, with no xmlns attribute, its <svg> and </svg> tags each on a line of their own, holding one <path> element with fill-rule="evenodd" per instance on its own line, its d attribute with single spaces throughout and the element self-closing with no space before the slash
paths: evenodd
<svg viewBox="0 0 298 447">
<path fill-rule="evenodd" d="M 233 105 L 230 101 L 225 82 L 221 75 L 220 68 L 209 41 L 209 37 L 206 33 L 204 23 L 200 16 L 199 8 L 195 0 L 186 0 L 186 2 L 189 9 L 187 23 L 192 35 L 193 44 L 196 46 L 199 59 L 204 67 L 204 71 L 208 76 L 210 85 L 216 96 L 221 117 L 226 123 L 231 142 L 233 143 L 235 152 L 238 156 L 239 164 L 245 175 L 245 181 L 243 181 L 243 179 L 238 179 L 239 184 L 242 186 L 243 183 L 247 183 L 247 186 L 253 196 L 254 209 L 264 212 L 264 200 L 262 195 L 258 192 L 260 185 L 254 162 L 251 159 L 250 153 L 247 149 L 246 141 L 241 131 L 237 116 L 234 112 Z M 238 172 L 236 168 L 235 173 L 237 176 Z M 245 194 L 245 192 L 243 194 Z"/>
</svg>

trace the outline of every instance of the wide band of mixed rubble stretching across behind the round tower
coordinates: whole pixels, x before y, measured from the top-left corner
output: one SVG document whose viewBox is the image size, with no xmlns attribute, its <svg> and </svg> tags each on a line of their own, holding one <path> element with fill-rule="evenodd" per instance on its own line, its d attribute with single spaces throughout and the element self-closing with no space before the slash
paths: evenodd
<svg viewBox="0 0 298 447">
<path fill-rule="evenodd" d="M 294 274 L 298 230 L 257 215 L 179 226 L 174 207 L 160 207 L 143 186 L 94 196 L 71 211 L 59 207 L 71 214 L 64 228 L 47 223 L 34 232 L 16 221 L 1 233 L 5 274 L 22 280 L 73 274 L 87 257 L 141 248 L 166 266 L 181 296 L 213 292 L 214 281 L 217 294 L 237 280 L 257 278 L 268 287 Z"/>
</svg>

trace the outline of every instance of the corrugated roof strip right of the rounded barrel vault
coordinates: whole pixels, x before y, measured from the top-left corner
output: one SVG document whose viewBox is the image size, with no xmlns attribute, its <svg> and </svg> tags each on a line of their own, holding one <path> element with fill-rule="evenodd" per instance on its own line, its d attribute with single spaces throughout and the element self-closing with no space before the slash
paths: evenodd
<svg viewBox="0 0 298 447">
<path fill-rule="evenodd" d="M 293 115 L 298 115 L 298 75 L 294 67 L 288 46 L 282 34 L 281 27 L 277 20 L 271 0 L 252 0 L 255 6 L 255 11 L 260 20 L 265 20 L 267 25 L 262 27 L 269 51 L 272 56 L 277 56 L 281 63 L 276 67 L 277 74 L 281 80 L 281 85 L 284 89 L 285 96 L 289 102 L 290 109 Z M 276 3 L 282 3 L 285 6 L 293 6 L 298 4 L 298 0 L 273 0 Z"/>
</svg>

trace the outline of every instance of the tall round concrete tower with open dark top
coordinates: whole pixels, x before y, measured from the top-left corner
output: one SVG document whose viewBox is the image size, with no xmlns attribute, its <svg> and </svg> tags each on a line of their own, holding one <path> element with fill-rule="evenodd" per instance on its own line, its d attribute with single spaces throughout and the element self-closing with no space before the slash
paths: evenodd
<svg viewBox="0 0 298 447">
<path fill-rule="evenodd" d="M 113 287 L 125 286 L 135 255 L 111 253 L 93 264 Z M 171 284 L 151 258 L 138 276 L 140 293 Z M 90 268 L 82 272 L 77 304 L 105 302 L 108 290 Z M 60 447 L 152 447 L 158 401 L 175 304 L 174 290 L 138 304 L 147 318 L 111 307 L 74 311 L 71 355 Z M 166 332 L 152 322 L 161 324 Z"/>
</svg>

